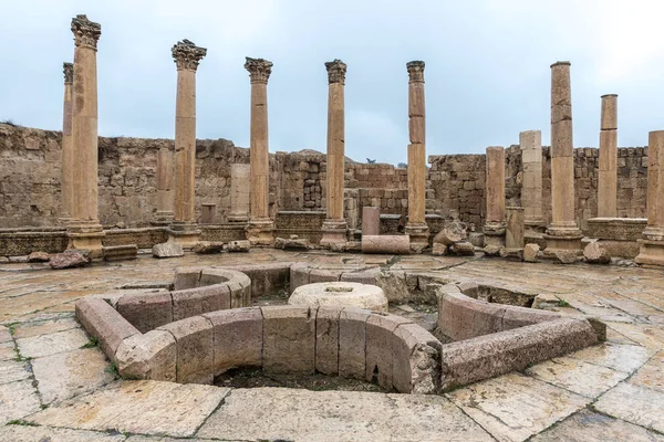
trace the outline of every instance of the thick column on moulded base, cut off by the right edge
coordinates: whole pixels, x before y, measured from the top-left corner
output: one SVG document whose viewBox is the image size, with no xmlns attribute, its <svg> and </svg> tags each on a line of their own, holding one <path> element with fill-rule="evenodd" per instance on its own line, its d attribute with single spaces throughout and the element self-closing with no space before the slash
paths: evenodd
<svg viewBox="0 0 664 442">
<path fill-rule="evenodd" d="M 639 241 L 639 264 L 664 265 L 664 130 L 647 139 L 647 227 Z"/>
</svg>

